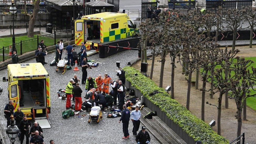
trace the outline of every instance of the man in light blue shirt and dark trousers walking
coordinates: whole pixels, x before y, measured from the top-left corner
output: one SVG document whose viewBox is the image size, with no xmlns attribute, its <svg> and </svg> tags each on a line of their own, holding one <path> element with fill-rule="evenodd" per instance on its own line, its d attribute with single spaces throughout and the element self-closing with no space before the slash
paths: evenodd
<svg viewBox="0 0 256 144">
<path fill-rule="evenodd" d="M 132 133 L 133 135 L 137 135 L 137 131 L 139 130 L 139 127 L 140 127 L 140 110 L 139 110 L 139 107 L 136 106 L 135 107 L 135 110 L 133 110 L 131 112 L 131 117 L 130 119 L 132 120 L 132 124 L 133 124 L 133 129 L 132 129 Z"/>
</svg>

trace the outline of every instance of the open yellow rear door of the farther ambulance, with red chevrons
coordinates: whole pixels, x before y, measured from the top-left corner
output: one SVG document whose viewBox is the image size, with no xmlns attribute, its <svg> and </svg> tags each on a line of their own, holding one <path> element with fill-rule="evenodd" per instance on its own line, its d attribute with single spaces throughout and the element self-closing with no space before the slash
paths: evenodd
<svg viewBox="0 0 256 144">
<path fill-rule="evenodd" d="M 75 45 L 82 45 L 81 42 L 87 39 L 87 27 L 83 19 L 75 20 Z"/>
</svg>

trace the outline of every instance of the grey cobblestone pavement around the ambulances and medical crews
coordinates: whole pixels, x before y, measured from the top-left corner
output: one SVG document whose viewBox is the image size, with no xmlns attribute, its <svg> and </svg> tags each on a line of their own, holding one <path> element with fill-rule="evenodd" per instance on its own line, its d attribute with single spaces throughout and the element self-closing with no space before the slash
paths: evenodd
<svg viewBox="0 0 256 144">
<path fill-rule="evenodd" d="M 76 49 L 78 50 L 78 48 Z M 50 63 L 54 59 L 55 53 L 47 55 L 46 62 Z M 131 59 L 137 58 L 138 52 L 135 50 L 126 50 L 120 52 L 119 54 L 112 55 L 107 58 L 99 58 L 98 54 L 89 56 L 89 60 L 95 60 L 95 62 L 100 62 L 98 67 L 92 68 L 92 70 L 87 69 L 88 76 L 96 77 L 98 74 L 109 73 L 113 79 L 117 79 L 115 75 L 117 70 L 116 61 L 120 61 L 121 67 Z M 29 60 L 28 63 L 35 62 L 35 59 Z M 49 66 L 49 64 L 44 65 L 47 72 L 50 75 L 50 95 L 51 95 L 51 114 L 49 114 L 49 120 L 51 122 L 50 129 L 43 129 L 45 143 L 49 143 L 51 139 L 55 143 L 62 144 L 74 144 L 74 143 L 136 143 L 135 137 L 132 135 L 132 122 L 129 123 L 129 133 L 130 138 L 122 139 L 122 124 L 119 124 L 119 118 L 106 118 L 107 113 L 103 113 L 103 119 L 97 124 L 95 121 L 92 121 L 88 124 L 88 113 L 82 112 L 81 114 L 86 114 L 86 116 L 73 116 L 68 119 L 62 118 L 62 111 L 65 109 L 66 100 L 58 99 L 57 90 L 65 88 L 65 85 L 73 77 L 73 74 L 77 74 L 78 78 L 82 78 L 81 67 L 78 67 L 79 71 L 67 70 L 65 74 L 61 72 L 55 72 L 55 66 Z M 72 67 L 73 69 L 73 67 Z M 0 76 L 7 76 L 7 70 L 1 70 Z M 4 119 L 3 109 L 8 102 L 7 97 L 7 82 L 0 82 L 0 85 L 3 87 L 4 91 L 0 99 L 0 111 L 1 111 L 1 126 L 6 127 L 6 119 Z M 85 85 L 81 85 L 84 95 Z M 82 98 L 84 99 L 84 98 Z M 109 110 L 108 110 L 109 111 Z M 108 112 L 106 111 L 106 112 Z M 83 120 L 80 120 L 83 118 Z M 141 126 L 140 126 L 141 127 Z M 5 131 L 2 129 L 2 131 Z M 3 136 L 6 136 L 6 133 L 3 132 Z M 159 143 L 155 137 L 151 136 L 150 143 Z M 7 136 L 8 137 L 8 136 Z M 8 141 L 9 140 L 5 140 Z M 19 142 L 17 139 L 16 142 Z"/>
</svg>

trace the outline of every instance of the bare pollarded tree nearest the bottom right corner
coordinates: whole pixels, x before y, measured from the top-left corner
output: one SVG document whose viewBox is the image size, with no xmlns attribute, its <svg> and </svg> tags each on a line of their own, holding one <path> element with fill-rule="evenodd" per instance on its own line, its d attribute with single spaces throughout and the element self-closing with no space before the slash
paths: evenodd
<svg viewBox="0 0 256 144">
<path fill-rule="evenodd" d="M 252 67 L 252 71 L 249 71 L 252 60 L 246 60 L 244 57 L 236 57 L 237 61 L 230 66 L 231 72 L 234 73 L 232 78 L 228 80 L 231 82 L 228 88 L 231 89 L 231 95 L 229 98 L 234 99 L 237 105 L 237 137 L 241 135 L 242 127 L 242 110 L 246 107 L 246 99 L 248 97 L 255 97 L 256 94 L 250 94 L 250 89 L 253 89 L 256 79 L 256 68 Z M 246 113 L 245 113 L 246 114 Z"/>
</svg>

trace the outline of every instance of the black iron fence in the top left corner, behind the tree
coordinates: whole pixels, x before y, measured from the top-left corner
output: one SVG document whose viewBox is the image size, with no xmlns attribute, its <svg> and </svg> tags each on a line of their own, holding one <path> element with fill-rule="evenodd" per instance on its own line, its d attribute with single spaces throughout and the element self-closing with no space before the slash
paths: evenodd
<svg viewBox="0 0 256 144">
<path fill-rule="evenodd" d="M 9 8 L 12 6 L 11 0 L 0 1 L 0 14 L 9 14 Z M 23 1 L 14 1 L 14 6 L 17 8 L 17 13 L 25 13 L 25 5 Z M 26 11 L 27 13 L 32 13 L 34 9 L 34 5 L 30 3 L 29 0 L 26 0 Z M 48 13 L 50 12 L 49 7 L 44 4 L 41 0 L 40 2 L 40 10 L 39 13 Z"/>
</svg>

